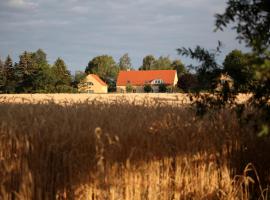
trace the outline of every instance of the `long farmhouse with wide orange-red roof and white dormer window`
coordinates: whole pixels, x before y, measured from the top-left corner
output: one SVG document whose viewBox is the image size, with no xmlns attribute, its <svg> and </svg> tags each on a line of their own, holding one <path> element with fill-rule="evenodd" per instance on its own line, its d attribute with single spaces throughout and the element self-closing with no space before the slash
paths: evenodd
<svg viewBox="0 0 270 200">
<path fill-rule="evenodd" d="M 178 81 L 176 70 L 120 71 L 117 78 L 117 92 L 144 92 L 144 86 L 150 85 L 153 92 L 159 91 L 159 85 L 173 88 Z"/>
</svg>

